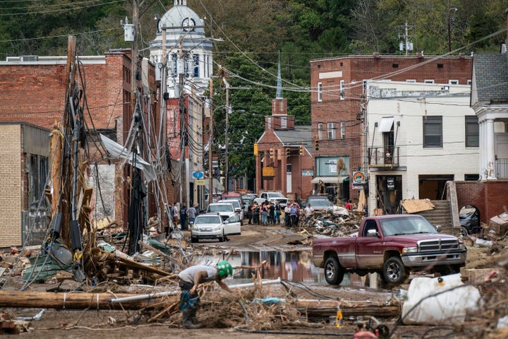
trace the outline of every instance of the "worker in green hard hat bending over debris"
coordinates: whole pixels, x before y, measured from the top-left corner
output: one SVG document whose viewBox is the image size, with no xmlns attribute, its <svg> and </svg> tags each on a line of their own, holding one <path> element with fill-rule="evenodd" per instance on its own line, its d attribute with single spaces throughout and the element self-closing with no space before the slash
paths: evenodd
<svg viewBox="0 0 508 339">
<path fill-rule="evenodd" d="M 229 286 L 224 283 L 224 278 L 233 275 L 233 267 L 228 261 L 219 261 L 217 266 L 195 265 L 178 274 L 178 283 L 181 289 L 180 311 L 182 312 L 183 328 L 200 328 L 195 323 L 195 314 L 198 312 L 200 298 L 198 287 L 202 283 L 216 282 L 223 290 L 232 292 Z"/>
</svg>

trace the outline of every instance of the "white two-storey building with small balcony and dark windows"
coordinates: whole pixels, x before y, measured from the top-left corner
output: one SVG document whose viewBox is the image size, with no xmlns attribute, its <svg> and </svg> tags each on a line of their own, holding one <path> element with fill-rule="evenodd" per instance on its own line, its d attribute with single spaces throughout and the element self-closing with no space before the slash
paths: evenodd
<svg viewBox="0 0 508 339">
<path fill-rule="evenodd" d="M 478 180 L 470 92 L 469 85 L 368 81 L 370 214 L 396 213 L 404 199 L 442 199 L 449 180 Z"/>
</svg>

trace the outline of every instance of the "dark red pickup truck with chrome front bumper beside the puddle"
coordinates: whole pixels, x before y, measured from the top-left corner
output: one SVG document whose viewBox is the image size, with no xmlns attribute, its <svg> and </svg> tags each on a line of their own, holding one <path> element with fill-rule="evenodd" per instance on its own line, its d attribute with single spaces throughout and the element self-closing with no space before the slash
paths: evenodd
<svg viewBox="0 0 508 339">
<path fill-rule="evenodd" d="M 338 285 L 345 273 L 382 273 L 387 286 L 404 282 L 410 271 L 458 273 L 466 263 L 466 247 L 440 234 L 421 215 L 380 215 L 364 218 L 358 237 L 315 238 L 314 265 L 325 268 L 325 279 Z"/>
</svg>

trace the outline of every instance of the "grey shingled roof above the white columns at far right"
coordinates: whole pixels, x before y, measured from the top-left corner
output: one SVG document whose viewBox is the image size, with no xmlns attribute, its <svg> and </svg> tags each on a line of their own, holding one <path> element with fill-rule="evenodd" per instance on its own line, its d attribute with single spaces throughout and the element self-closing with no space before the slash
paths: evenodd
<svg viewBox="0 0 508 339">
<path fill-rule="evenodd" d="M 475 54 L 473 79 L 478 102 L 508 100 L 508 54 Z"/>
</svg>

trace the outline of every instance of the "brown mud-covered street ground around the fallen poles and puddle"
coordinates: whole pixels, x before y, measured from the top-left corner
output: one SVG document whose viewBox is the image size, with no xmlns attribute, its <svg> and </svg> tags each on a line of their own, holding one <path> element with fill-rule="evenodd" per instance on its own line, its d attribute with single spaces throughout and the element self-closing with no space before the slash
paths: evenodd
<svg viewBox="0 0 508 339">
<path fill-rule="evenodd" d="M 184 237 L 188 234 L 184 232 Z M 293 230 L 286 230 L 282 225 L 244 225 L 242 234 L 231 236 L 226 242 L 202 241 L 198 244 L 188 244 L 189 253 L 206 251 L 308 251 L 310 244 L 308 237 Z M 229 284 L 234 283 L 232 280 Z M 18 290 L 22 285 L 20 277 L 14 277 L 10 286 L 4 290 Z M 323 299 L 340 298 L 344 302 L 375 302 L 387 303 L 397 297 L 397 290 L 381 290 L 365 287 L 364 285 L 330 286 L 326 283 L 305 283 L 308 291 L 294 290 L 299 299 L 316 299 L 315 295 L 322 295 Z M 27 292 L 47 290 L 47 284 L 32 284 Z M 402 286 L 407 287 L 407 286 Z M 281 285 L 270 285 L 270 296 L 286 297 L 287 291 Z M 157 290 L 159 292 L 160 290 Z M 19 316 L 32 317 L 40 309 L 0 309 L 13 318 Z M 492 324 L 485 323 L 485 319 L 468 318 L 464 326 L 405 326 L 396 318 L 385 318 L 380 314 L 365 314 L 363 320 L 375 316 L 378 321 L 386 325 L 392 338 L 508 338 L 504 333 L 496 333 L 488 337 Z M 334 319 L 301 319 L 309 320 L 313 326 L 299 326 L 296 328 L 282 328 L 275 331 L 260 331 L 253 333 L 246 331 L 240 324 L 236 328 L 214 328 L 207 323 L 206 316 L 198 314 L 197 320 L 204 328 L 188 330 L 179 326 L 179 315 L 155 323 L 146 323 L 147 316 L 136 310 L 129 311 L 97 311 L 97 310 L 59 310 L 47 309 L 40 321 L 30 321 L 30 331 L 20 335 L 23 338 L 330 338 L 334 336 L 353 338 L 356 332 L 355 318 L 344 319 L 344 328 L 337 328 Z M 478 336 L 474 333 L 478 333 Z M 506 333 L 508 334 L 508 333 Z"/>
</svg>

